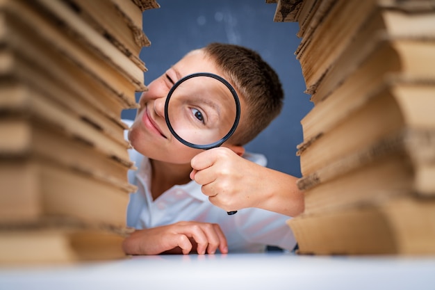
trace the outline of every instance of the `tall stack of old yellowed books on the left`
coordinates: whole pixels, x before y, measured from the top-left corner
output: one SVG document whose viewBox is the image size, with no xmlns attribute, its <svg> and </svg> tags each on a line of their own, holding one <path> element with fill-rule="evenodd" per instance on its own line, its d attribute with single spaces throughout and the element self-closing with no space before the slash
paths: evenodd
<svg viewBox="0 0 435 290">
<path fill-rule="evenodd" d="M 0 1 L 0 264 L 124 257 L 154 0 Z"/>
</svg>

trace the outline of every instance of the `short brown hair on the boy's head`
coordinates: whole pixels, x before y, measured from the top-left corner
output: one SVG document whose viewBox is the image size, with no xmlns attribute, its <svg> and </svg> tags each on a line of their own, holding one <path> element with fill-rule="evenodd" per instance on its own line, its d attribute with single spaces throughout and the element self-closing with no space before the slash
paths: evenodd
<svg viewBox="0 0 435 290">
<path fill-rule="evenodd" d="M 204 52 L 245 100 L 238 129 L 230 138 L 233 145 L 245 145 L 281 112 L 284 99 L 281 81 L 272 67 L 252 49 L 211 43 L 204 47 Z"/>
</svg>

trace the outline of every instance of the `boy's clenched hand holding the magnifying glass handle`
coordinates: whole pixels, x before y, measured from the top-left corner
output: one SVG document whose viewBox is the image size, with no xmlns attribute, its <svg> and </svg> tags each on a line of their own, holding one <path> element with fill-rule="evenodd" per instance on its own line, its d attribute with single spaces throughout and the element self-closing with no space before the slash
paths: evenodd
<svg viewBox="0 0 435 290">
<path fill-rule="evenodd" d="M 190 162 L 190 179 L 202 185 L 202 193 L 226 211 L 258 207 L 267 198 L 262 188 L 263 166 L 243 159 L 227 147 L 197 154 Z"/>
</svg>

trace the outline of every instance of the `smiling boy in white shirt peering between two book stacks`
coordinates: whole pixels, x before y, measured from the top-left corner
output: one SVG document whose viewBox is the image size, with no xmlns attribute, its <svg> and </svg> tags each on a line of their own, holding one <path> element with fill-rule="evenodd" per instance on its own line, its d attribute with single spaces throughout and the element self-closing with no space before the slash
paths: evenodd
<svg viewBox="0 0 435 290">
<path fill-rule="evenodd" d="M 181 144 L 165 124 L 167 93 L 181 77 L 195 72 L 224 77 L 240 98 L 241 117 L 236 132 L 222 147 L 206 152 Z M 296 241 L 286 225 L 288 216 L 284 214 L 295 216 L 303 210 L 303 198 L 295 189 L 295 177 L 262 167 L 265 166 L 264 156 L 246 154 L 243 148 L 281 110 L 284 93 L 272 68 L 250 49 L 214 43 L 190 51 L 148 88 L 140 98 L 136 120 L 129 130 L 134 148 L 131 159 L 138 166 L 137 172 L 130 172 L 129 179 L 138 186 L 138 193 L 131 195 L 127 223 L 138 230 L 124 241 L 126 254 L 188 254 L 192 250 L 198 254 L 213 254 L 217 250 L 222 253 L 261 252 L 266 245 L 292 250 Z M 228 168 L 226 162 L 231 160 L 243 168 Z M 258 170 L 260 175 L 268 172 L 270 179 L 265 181 L 269 185 L 266 187 L 284 188 L 286 205 L 283 207 L 281 202 L 277 210 L 283 214 L 272 212 L 276 203 L 262 205 L 268 204 L 269 198 L 276 199 L 274 191 L 270 191 L 272 195 L 269 191 L 263 192 L 265 186 L 255 175 L 231 181 L 231 176 L 222 174 L 221 170 L 238 170 L 240 174 L 245 168 L 251 168 L 247 172 Z M 222 186 L 217 177 L 228 183 Z M 231 200 L 229 195 L 240 193 L 232 191 L 231 187 L 256 183 L 258 186 L 252 186 L 254 204 L 243 198 L 235 199 L 240 201 L 233 204 L 219 204 L 221 193 L 226 200 Z M 279 191 L 276 196 L 284 196 L 284 193 Z M 249 195 L 244 196 L 249 199 Z M 238 210 L 238 213 L 229 216 L 211 202 L 227 207 L 228 211 Z"/>
</svg>

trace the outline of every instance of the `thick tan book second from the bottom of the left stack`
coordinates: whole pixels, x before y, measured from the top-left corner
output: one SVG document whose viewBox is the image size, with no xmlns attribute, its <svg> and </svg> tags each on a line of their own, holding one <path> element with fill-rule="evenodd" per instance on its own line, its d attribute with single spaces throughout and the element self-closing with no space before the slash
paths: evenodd
<svg viewBox="0 0 435 290">
<path fill-rule="evenodd" d="M 126 188 L 40 156 L 0 161 L 0 223 L 13 225 L 65 216 L 126 226 Z"/>
</svg>

